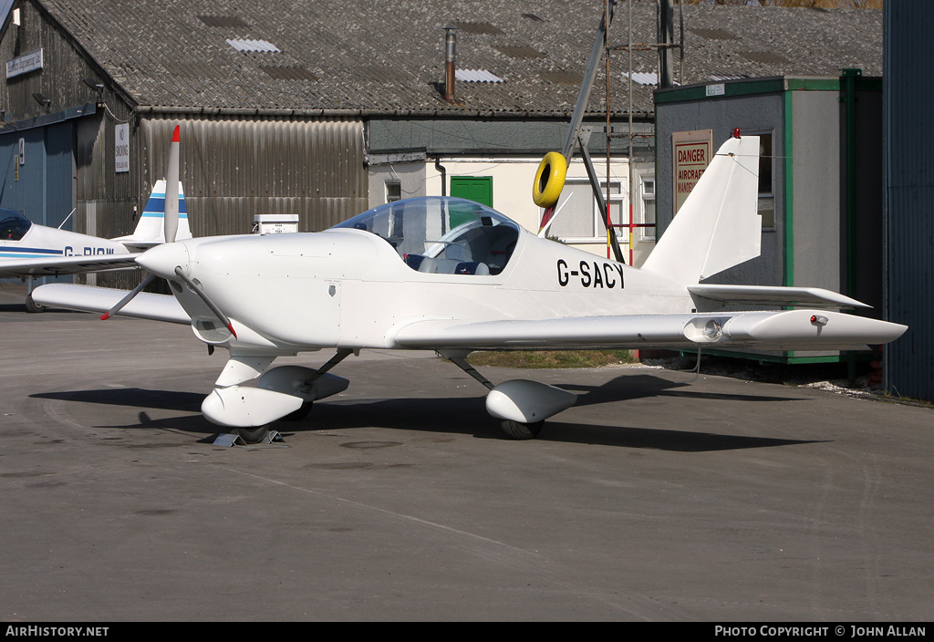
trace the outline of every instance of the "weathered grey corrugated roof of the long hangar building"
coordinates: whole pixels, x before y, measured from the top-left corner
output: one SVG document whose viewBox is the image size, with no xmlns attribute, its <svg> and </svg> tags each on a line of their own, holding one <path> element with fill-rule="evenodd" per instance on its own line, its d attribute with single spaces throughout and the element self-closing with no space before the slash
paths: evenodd
<svg viewBox="0 0 934 642">
<path fill-rule="evenodd" d="M 602 15 L 594 0 L 538 0 L 534 15 L 502 0 L 453 8 L 393 0 L 378 11 L 369 0 L 192 0 L 170 7 L 149 0 L 34 1 L 139 105 L 388 113 L 570 113 Z M 655 12 L 655 3 L 632 3 L 635 42 L 655 41 Z M 684 13 L 682 84 L 714 75 L 834 76 L 844 67 L 882 73 L 881 11 L 686 6 Z M 611 45 L 627 41 L 627 16 L 617 12 Z M 444 28 L 451 24 L 459 27 L 458 68 L 508 80 L 462 83 L 458 105 L 439 100 Z M 749 60 L 743 51 L 775 58 Z M 652 52 L 633 57 L 637 69 L 656 68 Z M 198 73 L 179 73 L 179 61 L 196 61 Z M 614 54 L 613 77 L 627 71 L 625 61 Z M 269 65 L 306 74 L 271 75 L 262 68 Z M 588 105 L 593 112 L 606 109 L 602 74 L 601 68 L 601 91 L 591 93 Z M 626 110 L 627 85 L 611 82 L 611 111 Z M 652 88 L 633 87 L 633 111 L 652 113 Z"/>
</svg>

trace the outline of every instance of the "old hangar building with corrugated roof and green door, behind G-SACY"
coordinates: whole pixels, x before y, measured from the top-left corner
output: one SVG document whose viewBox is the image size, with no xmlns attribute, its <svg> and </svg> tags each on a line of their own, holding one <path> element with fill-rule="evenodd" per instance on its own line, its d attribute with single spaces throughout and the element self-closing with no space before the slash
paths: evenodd
<svg viewBox="0 0 934 642">
<path fill-rule="evenodd" d="M 7 0 L 0 204 L 46 225 L 74 210 L 66 228 L 129 233 L 181 124 L 196 235 L 248 231 L 256 214 L 297 214 L 300 229 L 319 230 L 430 193 L 471 195 L 535 229 L 531 179 L 542 154 L 563 143 L 601 5 L 399 0 L 374 11 L 362 0 Z M 631 8 L 631 41 L 654 42 L 656 4 Z M 682 84 L 842 67 L 881 74 L 879 11 L 688 6 L 684 14 Z M 457 28 L 459 71 L 448 100 L 446 27 Z M 587 107 L 589 147 L 598 167 L 610 157 L 604 188 L 614 222 L 651 225 L 658 57 L 634 50 L 624 63 L 628 38 L 617 15 L 610 81 L 601 70 Z M 579 198 L 552 230 L 604 253 L 602 215 L 583 175 L 572 167 L 569 193 Z M 644 253 L 654 238 L 645 228 L 631 246 Z M 119 278 L 101 276 L 123 285 Z"/>
</svg>

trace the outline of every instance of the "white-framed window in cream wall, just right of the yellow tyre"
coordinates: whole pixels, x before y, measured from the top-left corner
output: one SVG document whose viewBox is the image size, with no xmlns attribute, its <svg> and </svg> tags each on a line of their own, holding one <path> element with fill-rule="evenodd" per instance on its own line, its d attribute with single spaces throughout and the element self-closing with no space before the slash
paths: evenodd
<svg viewBox="0 0 934 642">
<path fill-rule="evenodd" d="M 606 198 L 606 183 L 601 184 L 603 198 Z M 618 181 L 610 183 L 610 220 L 614 225 L 629 225 L 630 218 L 625 207 L 626 198 Z M 559 208 L 559 209 L 558 209 Z M 557 217 L 551 225 L 549 236 L 571 243 L 606 242 L 606 226 L 603 224 L 605 213 L 600 211 L 590 183 L 584 180 L 568 180 L 561 191 Z M 629 237 L 616 230 L 620 242 Z"/>
</svg>

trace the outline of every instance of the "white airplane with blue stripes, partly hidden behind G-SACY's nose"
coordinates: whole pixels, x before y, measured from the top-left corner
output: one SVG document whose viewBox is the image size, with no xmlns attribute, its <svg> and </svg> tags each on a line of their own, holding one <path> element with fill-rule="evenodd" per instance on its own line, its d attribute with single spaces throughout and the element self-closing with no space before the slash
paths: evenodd
<svg viewBox="0 0 934 642">
<path fill-rule="evenodd" d="M 5 207 L 0 207 L 0 278 L 26 281 L 26 309 L 42 312 L 33 299 L 33 281 L 39 276 L 135 268 L 128 256 L 164 242 L 165 181 L 156 181 L 133 234 L 102 239 L 87 234 L 48 228 Z M 177 240 L 191 238 L 185 194 L 178 184 Z"/>
</svg>

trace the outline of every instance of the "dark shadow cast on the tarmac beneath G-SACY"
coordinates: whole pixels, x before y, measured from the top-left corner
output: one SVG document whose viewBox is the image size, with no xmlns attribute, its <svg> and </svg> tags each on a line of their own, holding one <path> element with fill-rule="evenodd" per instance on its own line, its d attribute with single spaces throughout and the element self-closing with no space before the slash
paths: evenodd
<svg viewBox="0 0 934 642">
<path fill-rule="evenodd" d="M 806 398 L 735 395 L 707 392 L 689 382 L 672 382 L 651 375 L 625 375 L 598 386 L 563 385 L 579 394 L 577 407 L 617 403 L 636 398 L 678 398 L 701 404 L 729 402 L 785 402 Z M 202 393 L 117 388 L 41 393 L 34 398 L 59 399 L 80 403 L 97 403 L 135 408 L 186 412 L 185 416 L 151 419 L 140 412 L 139 423 L 123 426 L 95 426 L 122 429 L 168 429 L 188 433 L 216 435 L 214 426 L 200 414 Z M 537 440 L 589 443 L 626 448 L 644 448 L 677 452 L 707 452 L 746 448 L 766 448 L 792 444 L 814 443 L 814 440 L 787 440 L 770 437 L 749 437 L 712 433 L 700 428 L 690 409 L 680 415 L 679 426 L 634 427 L 625 426 L 627 417 L 638 414 L 641 421 L 646 411 L 628 412 L 621 405 L 614 415 L 614 425 L 581 424 L 556 421 L 545 422 Z M 558 418 L 561 415 L 558 415 Z M 704 421 L 709 421 L 705 419 Z M 342 430 L 362 427 L 385 427 L 417 430 L 430 433 L 457 433 L 473 435 L 478 439 L 506 439 L 498 421 L 488 415 L 484 398 L 388 398 L 388 399 L 328 399 L 315 403 L 308 417 L 298 422 L 279 421 L 276 430 L 285 435 L 307 430 Z M 706 427 L 706 426 L 704 426 Z M 205 441 L 213 440 L 213 437 Z"/>
</svg>

